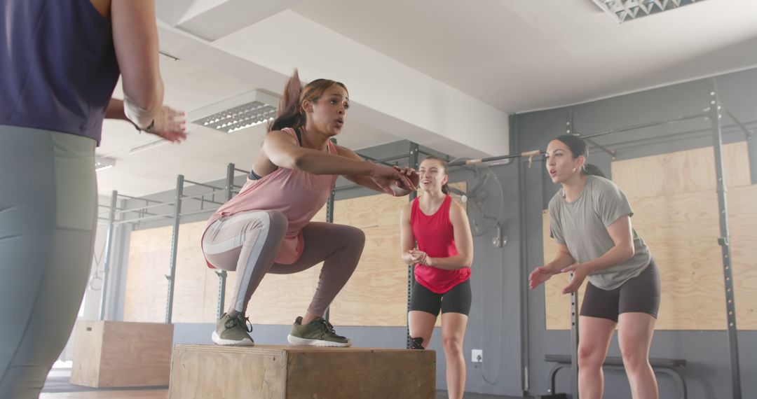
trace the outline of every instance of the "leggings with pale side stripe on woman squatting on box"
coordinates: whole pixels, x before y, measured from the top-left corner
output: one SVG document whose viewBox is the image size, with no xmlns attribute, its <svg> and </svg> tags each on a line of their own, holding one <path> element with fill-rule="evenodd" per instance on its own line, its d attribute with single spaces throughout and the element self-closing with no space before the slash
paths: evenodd
<svg viewBox="0 0 757 399">
<path fill-rule="evenodd" d="M 266 273 L 292 274 L 323 262 L 307 309 L 323 316 L 357 267 L 366 236 L 363 230 L 343 224 L 311 221 L 303 229 L 305 248 L 293 264 L 274 263 L 287 229 L 281 212 L 243 212 L 221 218 L 204 234 L 203 250 L 217 268 L 236 271 L 237 279 L 228 312 L 245 314 L 253 292 Z"/>
</svg>

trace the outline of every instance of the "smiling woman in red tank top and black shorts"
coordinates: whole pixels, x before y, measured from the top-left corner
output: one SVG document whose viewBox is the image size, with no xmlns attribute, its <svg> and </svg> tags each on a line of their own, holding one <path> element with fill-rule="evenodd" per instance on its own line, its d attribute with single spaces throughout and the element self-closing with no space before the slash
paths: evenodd
<svg viewBox="0 0 757 399">
<path fill-rule="evenodd" d="M 441 311 L 447 391 L 452 399 L 462 398 L 466 385 L 463 338 L 471 306 L 473 237 L 465 209 L 447 195 L 446 169 L 444 161 L 434 156 L 421 162 L 423 195 L 402 209 L 400 240 L 403 261 L 415 265 L 408 314 L 413 348 L 428 348 Z"/>
</svg>

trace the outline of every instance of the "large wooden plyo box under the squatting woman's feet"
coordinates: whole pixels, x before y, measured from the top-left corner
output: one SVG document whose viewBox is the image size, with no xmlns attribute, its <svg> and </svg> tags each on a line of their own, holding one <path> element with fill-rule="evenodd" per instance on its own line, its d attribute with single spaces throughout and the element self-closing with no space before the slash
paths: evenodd
<svg viewBox="0 0 757 399">
<path fill-rule="evenodd" d="M 170 399 L 434 398 L 435 351 L 176 345 Z"/>
</svg>

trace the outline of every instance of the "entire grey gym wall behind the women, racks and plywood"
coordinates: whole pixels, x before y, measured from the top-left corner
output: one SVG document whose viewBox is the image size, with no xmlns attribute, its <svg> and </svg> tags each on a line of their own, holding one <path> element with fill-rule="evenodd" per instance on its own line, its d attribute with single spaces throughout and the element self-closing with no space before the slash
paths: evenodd
<svg viewBox="0 0 757 399">
<path fill-rule="evenodd" d="M 721 101 L 749 128 L 757 127 L 757 70 L 747 70 L 718 77 Z M 524 113 L 512 116 L 511 148 L 514 153 L 544 149 L 550 138 L 565 131 L 565 122 L 572 111 L 574 126 L 582 134 L 605 131 L 643 122 L 654 122 L 689 115 L 709 106 L 709 82 L 696 81 L 666 88 L 657 88 L 621 97 L 609 98 L 574 107 Z M 743 134 L 734 123 L 724 117 L 724 141 L 743 140 Z M 630 159 L 674 150 L 685 150 L 712 145 L 709 122 L 704 120 L 678 122 L 598 138 L 603 145 L 618 150 L 617 159 Z M 665 139 L 660 139 L 665 136 Z M 750 141 L 750 162 L 757 161 L 755 141 Z M 369 156 L 381 158 L 407 152 L 407 142 L 387 144 L 365 150 Z M 609 174 L 612 157 L 593 150 L 590 162 Z M 503 234 L 508 242 L 503 248 L 491 245 L 492 234 L 475 237 L 475 258 L 472 274 L 473 302 L 469 326 L 464 343 L 468 364 L 467 391 L 520 396 L 547 392 L 547 373 L 552 366 L 544 362 L 544 354 L 569 354 L 569 332 L 547 331 L 544 326 L 544 290 L 526 289 L 526 277 L 536 266 L 543 264 L 541 211 L 556 192 L 554 184 L 546 179 L 540 157 L 528 166 L 524 159 L 510 164 L 492 166 L 503 187 Z M 752 169 L 757 170 L 755 168 Z M 220 180 L 223 185 L 224 170 Z M 450 171 L 451 172 L 451 171 Z M 472 183 L 472 172 L 455 169 L 453 181 Z M 187 178 L 192 178 L 187 176 Z M 752 173 L 757 178 L 757 172 Z M 239 180 L 238 180 L 239 181 Z M 241 181 L 240 181 L 241 182 Z M 192 189 L 195 190 L 195 189 Z M 196 192 L 196 191 L 195 191 Z M 337 199 L 366 195 L 367 190 L 339 192 Z M 173 192 L 158 193 L 154 199 L 173 200 Z M 189 204 L 189 203 L 188 203 Z M 135 206 L 130 202 L 125 206 Z M 494 206 L 489 204 L 489 206 Z M 195 207 L 195 208 L 192 208 Z M 197 203 L 186 209 L 197 209 Z M 715 212 L 715 210 L 714 210 Z M 183 221 L 198 221 L 207 214 L 194 215 Z M 170 221 L 153 221 L 134 228 L 157 227 Z M 123 285 L 126 276 L 129 229 L 120 230 L 118 245 L 114 248 L 114 277 L 109 304 L 111 319 L 123 317 Z M 168 265 L 165 265 L 167 268 Z M 664 287 L 663 287 L 664 289 Z M 157 298 L 164 300 L 164 298 Z M 737 304 L 738 307 L 738 304 Z M 253 320 L 254 322 L 254 320 Z M 210 324 L 177 324 L 176 343 L 209 343 Z M 284 344 L 288 326 L 254 326 L 253 336 L 261 344 Z M 354 339 L 355 345 L 403 348 L 403 327 L 338 326 L 340 333 Z M 757 332 L 740 332 L 743 391 L 757 391 Z M 484 351 L 483 363 L 471 363 L 473 348 Z M 444 388 L 445 367 L 441 348 L 441 332 L 435 331 L 431 349 L 438 352 L 438 387 Z M 617 342 L 613 341 L 610 355 L 618 356 Z M 653 357 L 682 357 L 689 361 L 684 370 L 690 398 L 727 397 L 731 392 L 729 358 L 725 332 L 713 331 L 660 331 L 656 333 L 652 348 Z M 528 377 L 528 378 L 527 378 Z M 674 385 L 666 376 L 659 378 L 661 397 L 674 397 Z M 558 388 L 569 390 L 567 373 L 558 378 Z M 622 373 L 606 373 L 606 397 L 630 398 L 628 382 Z"/>
</svg>

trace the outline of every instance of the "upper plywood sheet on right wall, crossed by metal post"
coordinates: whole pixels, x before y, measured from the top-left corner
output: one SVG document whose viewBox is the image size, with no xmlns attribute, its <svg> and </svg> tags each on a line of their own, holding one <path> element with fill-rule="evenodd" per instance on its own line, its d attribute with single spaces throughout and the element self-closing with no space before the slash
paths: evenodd
<svg viewBox="0 0 757 399">
<path fill-rule="evenodd" d="M 751 184 L 746 141 L 723 146 L 729 187 Z M 713 147 L 612 162 L 612 181 L 628 199 L 715 190 Z"/>
</svg>

